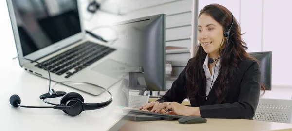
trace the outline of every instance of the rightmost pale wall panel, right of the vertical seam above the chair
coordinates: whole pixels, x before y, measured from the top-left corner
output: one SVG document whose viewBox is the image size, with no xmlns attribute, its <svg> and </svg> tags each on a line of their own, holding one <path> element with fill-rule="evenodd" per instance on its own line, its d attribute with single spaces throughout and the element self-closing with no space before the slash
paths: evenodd
<svg viewBox="0 0 292 131">
<path fill-rule="evenodd" d="M 272 83 L 292 85 L 291 0 L 264 0 L 262 49 L 273 51 Z"/>
</svg>

